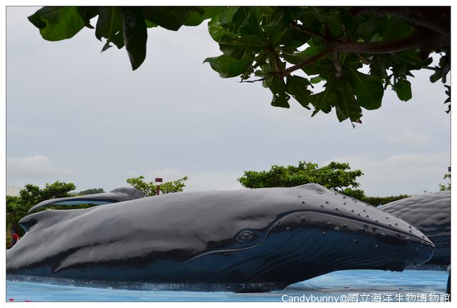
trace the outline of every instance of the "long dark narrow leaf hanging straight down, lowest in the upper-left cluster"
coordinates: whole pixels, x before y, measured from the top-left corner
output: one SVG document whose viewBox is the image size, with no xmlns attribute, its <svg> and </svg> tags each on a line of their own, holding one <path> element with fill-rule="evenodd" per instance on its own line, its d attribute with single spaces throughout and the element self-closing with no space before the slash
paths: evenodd
<svg viewBox="0 0 457 308">
<path fill-rule="evenodd" d="M 136 70 L 146 58 L 148 34 L 141 11 L 136 8 L 123 9 L 124 44 L 129 54 L 132 70 Z"/>
</svg>

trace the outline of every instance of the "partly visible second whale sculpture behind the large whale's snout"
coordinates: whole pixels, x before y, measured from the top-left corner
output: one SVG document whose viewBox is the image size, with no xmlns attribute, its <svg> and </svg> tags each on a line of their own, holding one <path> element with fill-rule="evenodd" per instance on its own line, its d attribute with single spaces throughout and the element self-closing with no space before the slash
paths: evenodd
<svg viewBox="0 0 457 308">
<path fill-rule="evenodd" d="M 451 191 L 415 195 L 379 207 L 409 222 L 435 245 L 428 265 L 451 264 Z"/>
</svg>

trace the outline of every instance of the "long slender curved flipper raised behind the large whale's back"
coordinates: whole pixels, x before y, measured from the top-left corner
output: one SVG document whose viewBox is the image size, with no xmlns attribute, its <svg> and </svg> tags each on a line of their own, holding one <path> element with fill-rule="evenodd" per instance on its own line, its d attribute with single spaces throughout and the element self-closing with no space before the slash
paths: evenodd
<svg viewBox="0 0 457 308">
<path fill-rule="evenodd" d="M 39 204 L 31 207 L 30 212 L 39 209 L 40 207 L 49 207 L 51 205 L 79 205 L 90 203 L 95 205 L 103 205 L 106 203 L 122 202 L 127 200 L 135 200 L 145 197 L 144 193 L 136 188 L 116 188 L 109 193 L 97 193 L 93 195 L 81 195 L 76 197 L 61 197 L 51 200 L 44 200 Z"/>
</svg>

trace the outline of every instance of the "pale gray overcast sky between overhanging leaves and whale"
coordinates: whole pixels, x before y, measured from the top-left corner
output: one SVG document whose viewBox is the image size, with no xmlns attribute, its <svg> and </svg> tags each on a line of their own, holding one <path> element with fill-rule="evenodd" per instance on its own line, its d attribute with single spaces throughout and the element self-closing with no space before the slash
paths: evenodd
<svg viewBox="0 0 457 308">
<path fill-rule="evenodd" d="M 363 170 L 368 195 L 433 192 L 446 182 L 450 116 L 430 71 L 411 79 L 411 101 L 389 90 L 353 129 L 334 111 L 311 118 L 293 99 L 290 109 L 274 108 L 261 84 L 220 78 L 203 63 L 221 53 L 206 23 L 149 29 L 146 61 L 131 71 L 124 48 L 100 53 L 94 30 L 41 39 L 26 19 L 34 11 L 6 9 L 6 185 L 112 190 L 138 175 L 189 175 L 185 191 L 237 189 L 244 170 L 298 160 L 348 162 Z"/>
</svg>

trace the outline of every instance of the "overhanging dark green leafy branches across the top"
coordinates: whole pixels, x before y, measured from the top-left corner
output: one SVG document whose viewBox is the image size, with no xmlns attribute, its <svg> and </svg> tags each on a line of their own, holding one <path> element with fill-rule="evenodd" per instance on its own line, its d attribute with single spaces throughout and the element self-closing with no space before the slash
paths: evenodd
<svg viewBox="0 0 457 308">
<path fill-rule="evenodd" d="M 45 6 L 29 16 L 49 41 L 95 29 L 102 51 L 125 46 L 134 70 L 146 58 L 148 28 L 178 31 L 207 19 L 222 54 L 204 62 L 219 76 L 262 83 L 272 106 L 288 108 L 293 97 L 312 116 L 335 108 L 338 120 L 361 123 L 363 109 L 381 107 L 386 88 L 411 99 L 412 71 L 429 69 L 431 82 L 446 83 L 451 70 L 450 6 Z M 431 53 L 440 55 L 438 66 L 430 66 Z M 446 86 L 445 103 L 450 92 Z"/>
</svg>

